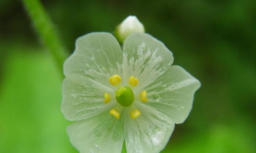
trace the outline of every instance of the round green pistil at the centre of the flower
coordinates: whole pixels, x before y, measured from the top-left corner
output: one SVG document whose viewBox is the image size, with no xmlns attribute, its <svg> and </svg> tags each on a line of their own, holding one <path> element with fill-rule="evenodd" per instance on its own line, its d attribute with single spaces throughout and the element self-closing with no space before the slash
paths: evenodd
<svg viewBox="0 0 256 153">
<path fill-rule="evenodd" d="M 130 106 L 134 101 L 134 94 L 129 86 L 120 87 L 115 94 L 116 101 L 124 107 Z"/>
</svg>

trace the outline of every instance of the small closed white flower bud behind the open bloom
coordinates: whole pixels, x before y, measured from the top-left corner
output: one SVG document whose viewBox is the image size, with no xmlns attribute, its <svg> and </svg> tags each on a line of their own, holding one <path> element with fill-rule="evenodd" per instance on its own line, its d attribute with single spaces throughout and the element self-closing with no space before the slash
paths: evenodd
<svg viewBox="0 0 256 153">
<path fill-rule="evenodd" d="M 126 37 L 132 33 L 145 33 L 143 24 L 140 23 L 136 16 L 128 16 L 116 28 L 116 35 L 120 42 L 124 42 Z"/>
</svg>

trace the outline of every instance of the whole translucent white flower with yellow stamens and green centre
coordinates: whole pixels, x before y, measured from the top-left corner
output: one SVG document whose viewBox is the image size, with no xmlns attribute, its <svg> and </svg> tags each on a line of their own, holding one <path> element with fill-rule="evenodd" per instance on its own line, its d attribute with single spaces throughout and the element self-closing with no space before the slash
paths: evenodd
<svg viewBox="0 0 256 153">
<path fill-rule="evenodd" d="M 64 63 L 62 111 L 81 153 L 156 153 L 192 109 L 200 82 L 171 66 L 172 52 L 145 33 L 121 47 L 110 33 L 79 37 Z"/>
</svg>

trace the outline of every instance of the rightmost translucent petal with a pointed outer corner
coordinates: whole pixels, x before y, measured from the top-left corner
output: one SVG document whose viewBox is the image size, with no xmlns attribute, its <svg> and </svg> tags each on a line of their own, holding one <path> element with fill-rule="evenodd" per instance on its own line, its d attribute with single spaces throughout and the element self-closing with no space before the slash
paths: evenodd
<svg viewBox="0 0 256 153">
<path fill-rule="evenodd" d="M 182 67 L 172 66 L 161 77 L 147 86 L 148 102 L 145 103 L 182 123 L 192 109 L 194 93 L 200 82 Z"/>
</svg>

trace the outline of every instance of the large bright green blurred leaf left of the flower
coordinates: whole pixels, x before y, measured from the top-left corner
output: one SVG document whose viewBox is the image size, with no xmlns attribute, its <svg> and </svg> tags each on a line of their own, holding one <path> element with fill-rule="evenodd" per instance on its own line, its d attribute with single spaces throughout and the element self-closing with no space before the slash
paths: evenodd
<svg viewBox="0 0 256 153">
<path fill-rule="evenodd" d="M 18 47 L 4 63 L 0 88 L 2 153 L 72 153 L 61 111 L 61 77 L 50 56 Z M 17 50 L 17 49 L 15 49 Z M 22 51 L 22 52 L 21 52 Z"/>
</svg>

